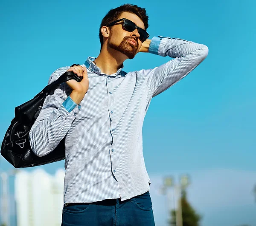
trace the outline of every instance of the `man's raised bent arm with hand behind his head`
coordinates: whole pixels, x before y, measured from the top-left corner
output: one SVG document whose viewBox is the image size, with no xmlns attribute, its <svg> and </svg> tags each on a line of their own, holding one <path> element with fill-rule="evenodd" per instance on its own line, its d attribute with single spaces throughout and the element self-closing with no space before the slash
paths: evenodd
<svg viewBox="0 0 256 226">
<path fill-rule="evenodd" d="M 208 48 L 191 41 L 156 36 L 143 42 L 140 52 L 174 58 L 154 69 L 140 71 L 147 77 L 148 87 L 154 97 L 194 70 L 207 57 Z"/>
</svg>

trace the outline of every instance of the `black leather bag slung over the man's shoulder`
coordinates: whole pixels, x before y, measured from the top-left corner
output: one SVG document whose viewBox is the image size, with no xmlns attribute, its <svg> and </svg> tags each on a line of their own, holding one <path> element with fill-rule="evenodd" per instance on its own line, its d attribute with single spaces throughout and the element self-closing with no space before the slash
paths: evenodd
<svg viewBox="0 0 256 226">
<path fill-rule="evenodd" d="M 81 82 L 79 76 L 72 71 L 67 71 L 56 81 L 47 85 L 33 99 L 15 107 L 15 118 L 11 121 L 1 147 L 1 155 L 15 168 L 35 167 L 65 159 L 64 139 L 51 153 L 43 157 L 35 155 L 29 144 L 29 131 L 41 111 L 47 94 L 70 79 Z"/>
</svg>

